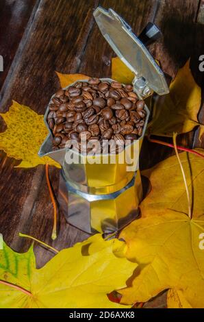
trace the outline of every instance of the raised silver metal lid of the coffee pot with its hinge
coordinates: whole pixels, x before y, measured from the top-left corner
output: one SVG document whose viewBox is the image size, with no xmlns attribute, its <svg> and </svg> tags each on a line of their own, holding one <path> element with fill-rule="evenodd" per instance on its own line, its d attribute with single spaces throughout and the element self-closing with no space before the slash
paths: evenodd
<svg viewBox="0 0 204 322">
<path fill-rule="evenodd" d="M 136 75 L 133 86 L 140 96 L 147 97 L 152 91 L 158 95 L 168 94 L 164 73 L 123 18 L 114 10 L 101 7 L 94 10 L 94 18 L 116 55 Z"/>
</svg>

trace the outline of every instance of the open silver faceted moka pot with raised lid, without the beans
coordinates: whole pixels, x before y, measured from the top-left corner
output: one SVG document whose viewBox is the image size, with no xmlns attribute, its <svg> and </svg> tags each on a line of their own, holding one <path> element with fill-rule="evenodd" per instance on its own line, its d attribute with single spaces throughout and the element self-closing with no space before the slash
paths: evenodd
<svg viewBox="0 0 204 322">
<path fill-rule="evenodd" d="M 116 55 L 134 73 L 132 85 L 138 97 L 145 99 L 153 92 L 158 95 L 167 94 L 168 86 L 164 74 L 143 43 L 157 38 L 160 34 L 157 27 L 153 24 L 147 25 L 138 38 L 131 32 L 131 28 L 123 18 L 112 9 L 107 11 L 99 7 L 94 10 L 94 18 Z M 113 79 L 101 78 L 101 80 L 112 82 Z M 68 148 L 53 151 L 52 134 L 47 124 L 49 112 L 47 108 L 44 123 L 49 129 L 49 136 L 44 140 L 38 154 L 49 156 L 62 166 L 58 202 L 66 221 L 71 225 L 91 234 L 111 233 L 120 230 L 136 218 L 138 204 L 142 198 L 138 160 L 150 114 L 146 105 L 144 109 L 146 121 L 142 136 L 126 147 L 127 158 L 124 162 L 120 162 L 120 154 L 123 153 L 121 152 L 116 154 L 115 162 L 112 163 L 110 155 L 84 156 L 83 153 Z M 71 153 L 77 153 L 77 162 L 67 162 L 71 159 Z M 103 157 L 105 162 L 102 160 Z"/>
</svg>

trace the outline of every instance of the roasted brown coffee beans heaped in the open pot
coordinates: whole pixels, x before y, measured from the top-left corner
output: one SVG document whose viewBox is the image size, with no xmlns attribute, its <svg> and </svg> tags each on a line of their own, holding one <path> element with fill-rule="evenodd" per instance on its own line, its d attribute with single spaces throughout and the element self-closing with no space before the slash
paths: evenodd
<svg viewBox="0 0 204 322">
<path fill-rule="evenodd" d="M 53 149 L 67 140 L 137 140 L 146 118 L 144 101 L 133 86 L 90 78 L 67 90 L 58 90 L 49 104 L 47 122 L 53 134 Z"/>
</svg>

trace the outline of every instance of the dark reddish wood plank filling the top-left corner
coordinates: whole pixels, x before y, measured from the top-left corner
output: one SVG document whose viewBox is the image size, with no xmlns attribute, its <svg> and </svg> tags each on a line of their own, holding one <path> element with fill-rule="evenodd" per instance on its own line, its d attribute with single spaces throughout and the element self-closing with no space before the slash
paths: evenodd
<svg viewBox="0 0 204 322">
<path fill-rule="evenodd" d="M 0 89 L 12 64 L 19 42 L 30 16 L 33 16 L 40 0 L 0 1 L 0 55 L 3 56 L 3 72 L 0 73 Z"/>
</svg>

